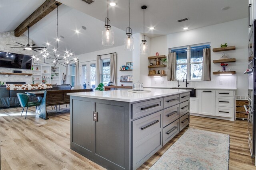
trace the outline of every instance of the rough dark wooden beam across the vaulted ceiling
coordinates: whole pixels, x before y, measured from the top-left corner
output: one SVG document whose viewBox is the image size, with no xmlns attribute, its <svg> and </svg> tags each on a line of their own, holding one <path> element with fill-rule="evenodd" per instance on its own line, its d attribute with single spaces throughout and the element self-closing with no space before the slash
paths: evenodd
<svg viewBox="0 0 256 170">
<path fill-rule="evenodd" d="M 26 20 L 24 20 L 15 30 L 15 37 L 22 35 L 28 28 L 44 18 L 47 14 L 57 8 L 56 3 L 61 4 L 56 0 L 46 0 L 39 8 L 37 8 Z"/>
</svg>

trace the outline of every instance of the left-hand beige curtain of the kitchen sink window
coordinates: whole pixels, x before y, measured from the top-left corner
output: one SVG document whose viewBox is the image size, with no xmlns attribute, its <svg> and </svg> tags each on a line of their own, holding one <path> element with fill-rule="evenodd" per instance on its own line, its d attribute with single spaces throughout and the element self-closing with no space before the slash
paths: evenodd
<svg viewBox="0 0 256 170">
<path fill-rule="evenodd" d="M 176 81 L 176 52 L 169 53 L 167 66 L 167 81 Z"/>
</svg>

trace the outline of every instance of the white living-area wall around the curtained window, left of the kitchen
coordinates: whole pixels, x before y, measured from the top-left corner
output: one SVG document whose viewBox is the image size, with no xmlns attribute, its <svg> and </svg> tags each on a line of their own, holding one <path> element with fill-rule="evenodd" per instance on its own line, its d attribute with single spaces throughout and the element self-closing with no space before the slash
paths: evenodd
<svg viewBox="0 0 256 170">
<path fill-rule="evenodd" d="M 124 86 L 132 86 L 132 83 L 130 82 L 120 82 L 120 76 L 124 75 L 133 75 L 133 71 L 119 71 L 120 66 L 126 65 L 126 62 L 131 62 L 132 61 L 132 51 L 125 51 L 124 46 L 118 46 L 118 47 L 113 47 L 109 49 L 104 49 L 100 51 L 94 51 L 91 53 L 86 53 L 86 54 L 81 54 L 78 57 L 80 66 L 86 61 L 95 61 L 96 62 L 96 57 L 97 55 L 104 55 L 108 53 L 117 53 L 116 57 L 116 75 L 117 75 L 117 86 L 121 86 L 121 84 L 124 84 Z M 82 78 L 80 78 L 80 82 L 82 85 Z"/>
</svg>

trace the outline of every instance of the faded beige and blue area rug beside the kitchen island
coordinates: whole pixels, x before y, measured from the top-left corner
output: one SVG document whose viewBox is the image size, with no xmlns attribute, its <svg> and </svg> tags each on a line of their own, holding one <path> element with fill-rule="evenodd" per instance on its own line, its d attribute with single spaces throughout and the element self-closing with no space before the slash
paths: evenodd
<svg viewBox="0 0 256 170">
<path fill-rule="evenodd" d="M 150 170 L 228 170 L 229 135 L 189 128 Z"/>
</svg>

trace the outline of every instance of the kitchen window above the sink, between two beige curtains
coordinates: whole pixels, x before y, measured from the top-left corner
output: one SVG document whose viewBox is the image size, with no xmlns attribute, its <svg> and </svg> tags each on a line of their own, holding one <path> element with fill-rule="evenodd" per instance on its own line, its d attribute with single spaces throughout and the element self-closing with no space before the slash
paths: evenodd
<svg viewBox="0 0 256 170">
<path fill-rule="evenodd" d="M 190 45 L 169 50 L 170 52 L 175 51 L 177 55 L 177 80 L 182 80 L 185 73 L 190 75 L 188 80 L 201 80 L 204 48 L 210 48 L 210 44 Z"/>
</svg>

